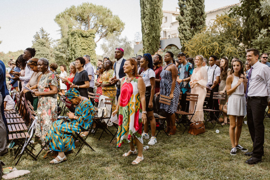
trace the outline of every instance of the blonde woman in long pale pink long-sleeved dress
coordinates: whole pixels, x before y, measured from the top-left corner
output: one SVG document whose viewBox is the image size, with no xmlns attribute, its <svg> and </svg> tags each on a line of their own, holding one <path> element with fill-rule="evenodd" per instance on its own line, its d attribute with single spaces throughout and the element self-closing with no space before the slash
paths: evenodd
<svg viewBox="0 0 270 180">
<path fill-rule="evenodd" d="M 199 94 L 197 107 L 194 113 L 193 118 L 191 119 L 192 122 L 194 121 L 203 121 L 204 114 L 203 114 L 203 103 L 206 96 L 206 84 L 208 80 L 207 70 L 202 66 L 203 65 L 203 56 L 198 55 L 195 57 L 195 64 L 196 68 L 193 70 L 193 73 L 190 78 L 190 87 L 191 87 L 191 94 Z M 194 112 L 195 102 L 190 101 L 189 105 L 189 113 Z M 191 118 L 189 116 L 188 118 Z"/>
</svg>

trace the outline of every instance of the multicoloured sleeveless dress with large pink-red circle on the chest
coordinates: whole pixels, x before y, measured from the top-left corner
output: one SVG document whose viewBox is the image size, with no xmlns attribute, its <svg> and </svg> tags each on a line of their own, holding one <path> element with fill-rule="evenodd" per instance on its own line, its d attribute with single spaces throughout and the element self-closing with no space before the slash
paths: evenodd
<svg viewBox="0 0 270 180">
<path fill-rule="evenodd" d="M 134 78 L 130 83 L 127 83 L 127 76 L 124 77 L 121 96 L 119 97 L 119 126 L 117 131 L 117 147 L 120 147 L 124 142 L 135 144 L 134 136 L 143 144 L 141 136 L 141 98 L 138 90 L 138 78 Z"/>
</svg>

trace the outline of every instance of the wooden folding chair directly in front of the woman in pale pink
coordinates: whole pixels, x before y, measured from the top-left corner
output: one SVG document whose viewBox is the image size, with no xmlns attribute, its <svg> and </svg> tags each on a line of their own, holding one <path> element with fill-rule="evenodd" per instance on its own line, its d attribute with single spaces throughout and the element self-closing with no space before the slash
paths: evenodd
<svg viewBox="0 0 270 180">
<path fill-rule="evenodd" d="M 193 118 L 194 114 L 195 114 L 195 111 L 196 111 L 196 107 L 197 107 L 197 102 L 198 102 L 198 94 L 190 94 L 190 93 L 187 93 L 187 98 L 186 98 L 186 101 L 193 101 L 195 102 L 195 108 L 194 108 L 194 111 L 191 112 L 191 113 L 188 113 L 188 112 L 185 112 L 185 111 L 182 111 L 179 107 L 178 107 L 178 110 L 175 112 L 176 114 L 178 114 L 179 116 L 181 116 L 181 120 L 182 121 L 178 121 L 177 122 L 177 125 L 180 124 L 181 122 L 183 122 L 183 120 L 186 120 L 186 124 L 182 123 L 185 127 L 185 130 L 187 129 L 187 127 L 190 125 L 190 122 L 191 122 L 191 119 Z M 179 96 L 179 100 L 181 100 L 182 98 L 182 93 L 180 92 L 180 96 Z M 184 109 L 186 109 L 187 107 L 185 107 Z M 188 116 L 191 116 L 190 119 L 188 119 Z M 185 133 L 185 130 L 183 131 L 183 134 Z"/>
</svg>

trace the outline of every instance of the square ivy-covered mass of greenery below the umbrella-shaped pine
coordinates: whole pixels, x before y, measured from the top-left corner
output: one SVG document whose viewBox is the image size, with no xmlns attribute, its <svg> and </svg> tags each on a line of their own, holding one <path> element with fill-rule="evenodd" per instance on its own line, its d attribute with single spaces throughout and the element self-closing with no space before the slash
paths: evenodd
<svg viewBox="0 0 270 180">
<path fill-rule="evenodd" d="M 74 61 L 77 57 L 88 54 L 91 58 L 91 63 L 96 65 L 96 30 L 88 29 L 72 29 L 69 25 L 68 31 L 68 62 Z"/>
</svg>

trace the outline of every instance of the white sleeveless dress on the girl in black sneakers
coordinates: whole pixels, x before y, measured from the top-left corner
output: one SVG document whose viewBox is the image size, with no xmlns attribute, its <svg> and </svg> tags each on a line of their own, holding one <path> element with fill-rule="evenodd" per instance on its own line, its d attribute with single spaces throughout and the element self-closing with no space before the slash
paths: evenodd
<svg viewBox="0 0 270 180">
<path fill-rule="evenodd" d="M 234 74 L 232 74 L 234 76 Z M 239 77 L 234 76 L 231 87 L 234 87 L 239 80 Z M 246 98 L 244 91 L 244 83 L 241 83 L 240 86 L 232 93 L 228 99 L 228 115 L 234 116 L 245 116 L 247 114 L 246 110 Z"/>
</svg>

